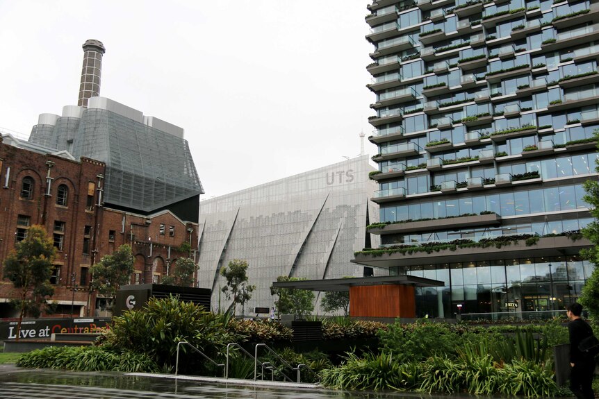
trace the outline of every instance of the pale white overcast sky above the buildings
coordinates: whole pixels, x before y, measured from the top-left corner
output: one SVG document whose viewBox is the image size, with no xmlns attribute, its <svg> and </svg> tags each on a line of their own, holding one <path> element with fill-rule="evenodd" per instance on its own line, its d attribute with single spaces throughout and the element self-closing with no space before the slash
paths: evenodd
<svg viewBox="0 0 599 399">
<path fill-rule="evenodd" d="M 203 198 L 353 158 L 374 114 L 367 4 L 0 0 L 0 127 L 76 105 L 97 39 L 101 96 L 184 128 Z"/>
</svg>

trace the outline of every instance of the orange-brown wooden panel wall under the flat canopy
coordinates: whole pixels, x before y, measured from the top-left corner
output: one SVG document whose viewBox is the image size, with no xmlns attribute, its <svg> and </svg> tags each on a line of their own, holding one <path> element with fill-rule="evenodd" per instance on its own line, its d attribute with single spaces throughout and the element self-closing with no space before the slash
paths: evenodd
<svg viewBox="0 0 599 399">
<path fill-rule="evenodd" d="M 416 317 L 416 296 L 409 285 L 350 287 L 350 316 Z"/>
</svg>

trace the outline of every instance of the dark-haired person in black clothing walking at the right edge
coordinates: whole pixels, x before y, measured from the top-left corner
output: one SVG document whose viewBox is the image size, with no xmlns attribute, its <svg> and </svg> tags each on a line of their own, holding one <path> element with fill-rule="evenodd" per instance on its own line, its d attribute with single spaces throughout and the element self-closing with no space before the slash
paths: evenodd
<svg viewBox="0 0 599 399">
<path fill-rule="evenodd" d="M 591 384 L 593 383 L 593 372 L 595 371 L 595 359 L 584 355 L 578 349 L 582 339 L 593 334 L 591 326 L 580 318 L 582 305 L 572 303 L 566 308 L 566 315 L 570 319 L 568 332 L 570 333 L 570 389 L 577 398 L 593 399 L 595 393 Z"/>
</svg>

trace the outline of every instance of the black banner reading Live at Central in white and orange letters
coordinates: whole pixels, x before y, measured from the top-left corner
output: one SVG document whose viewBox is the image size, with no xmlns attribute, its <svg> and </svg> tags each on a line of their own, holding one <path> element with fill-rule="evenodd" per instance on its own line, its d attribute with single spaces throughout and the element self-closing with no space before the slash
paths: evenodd
<svg viewBox="0 0 599 399">
<path fill-rule="evenodd" d="M 23 319 L 20 339 L 50 339 L 52 334 L 104 332 L 109 317 L 99 319 Z M 18 319 L 0 321 L 0 341 L 17 338 Z"/>
</svg>

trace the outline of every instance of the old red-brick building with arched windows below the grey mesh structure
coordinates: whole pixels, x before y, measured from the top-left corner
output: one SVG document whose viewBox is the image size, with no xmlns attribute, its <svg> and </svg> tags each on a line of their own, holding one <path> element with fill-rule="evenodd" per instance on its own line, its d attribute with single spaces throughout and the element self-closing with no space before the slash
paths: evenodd
<svg viewBox="0 0 599 399">
<path fill-rule="evenodd" d="M 106 315 L 106 300 L 90 291 L 89 268 L 122 244 L 130 244 L 135 257 L 132 284 L 159 282 L 178 257 L 196 255 L 197 221 L 183 221 L 170 210 L 111 208 L 104 203 L 105 173 L 104 162 L 76 162 L 64 151 L 0 137 L 0 272 L 28 227 L 44 226 L 57 248 L 50 300 L 58 303 L 59 315 Z M 13 285 L 0 281 L 0 317 L 15 315 L 11 298 Z"/>
</svg>

